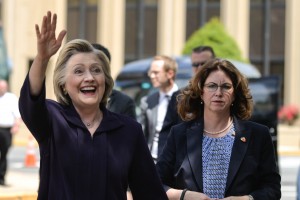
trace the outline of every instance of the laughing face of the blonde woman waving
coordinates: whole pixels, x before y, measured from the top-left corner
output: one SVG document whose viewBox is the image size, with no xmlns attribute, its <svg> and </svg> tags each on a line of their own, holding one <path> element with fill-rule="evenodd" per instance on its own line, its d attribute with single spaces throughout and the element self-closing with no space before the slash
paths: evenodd
<svg viewBox="0 0 300 200">
<path fill-rule="evenodd" d="M 77 53 L 66 63 L 64 89 L 77 109 L 99 107 L 105 91 L 102 66 L 94 53 Z"/>
</svg>

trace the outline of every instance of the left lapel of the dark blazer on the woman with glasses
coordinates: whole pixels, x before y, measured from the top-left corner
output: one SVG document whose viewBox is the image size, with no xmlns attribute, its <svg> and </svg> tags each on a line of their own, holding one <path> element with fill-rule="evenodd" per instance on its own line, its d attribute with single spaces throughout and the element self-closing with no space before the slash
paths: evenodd
<svg viewBox="0 0 300 200">
<path fill-rule="evenodd" d="M 203 134 L 202 133 L 203 133 L 203 123 L 194 122 L 191 125 L 191 127 L 187 129 L 187 155 L 199 191 L 203 191 L 203 182 L 202 182 Z"/>
</svg>

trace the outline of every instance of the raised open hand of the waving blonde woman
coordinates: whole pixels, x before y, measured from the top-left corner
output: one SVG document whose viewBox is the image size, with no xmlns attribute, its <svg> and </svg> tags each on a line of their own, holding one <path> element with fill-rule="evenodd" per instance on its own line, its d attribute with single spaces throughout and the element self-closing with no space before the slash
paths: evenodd
<svg viewBox="0 0 300 200">
<path fill-rule="evenodd" d="M 37 36 L 37 56 L 45 61 L 48 61 L 61 46 L 62 40 L 66 35 L 66 31 L 62 30 L 56 38 L 56 21 L 57 16 L 53 14 L 51 19 L 51 12 L 48 11 L 47 15 L 43 17 L 41 30 L 39 26 L 35 25 Z"/>
</svg>

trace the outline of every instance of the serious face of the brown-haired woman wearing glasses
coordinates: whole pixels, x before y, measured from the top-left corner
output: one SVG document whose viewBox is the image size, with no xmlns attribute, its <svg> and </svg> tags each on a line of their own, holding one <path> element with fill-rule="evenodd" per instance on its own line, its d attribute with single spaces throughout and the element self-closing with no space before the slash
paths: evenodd
<svg viewBox="0 0 300 200">
<path fill-rule="evenodd" d="M 205 80 L 201 98 L 204 112 L 230 114 L 235 98 L 231 79 L 222 70 L 211 72 Z"/>
</svg>

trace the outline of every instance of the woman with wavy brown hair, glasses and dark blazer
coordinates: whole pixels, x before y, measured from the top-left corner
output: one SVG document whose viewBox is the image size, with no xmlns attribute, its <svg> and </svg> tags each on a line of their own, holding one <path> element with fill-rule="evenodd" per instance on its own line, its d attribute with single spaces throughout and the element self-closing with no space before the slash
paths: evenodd
<svg viewBox="0 0 300 200">
<path fill-rule="evenodd" d="M 280 199 L 269 130 L 247 120 L 252 104 L 247 79 L 232 63 L 202 66 L 178 96 L 185 122 L 172 127 L 157 162 L 169 199 Z"/>
</svg>

